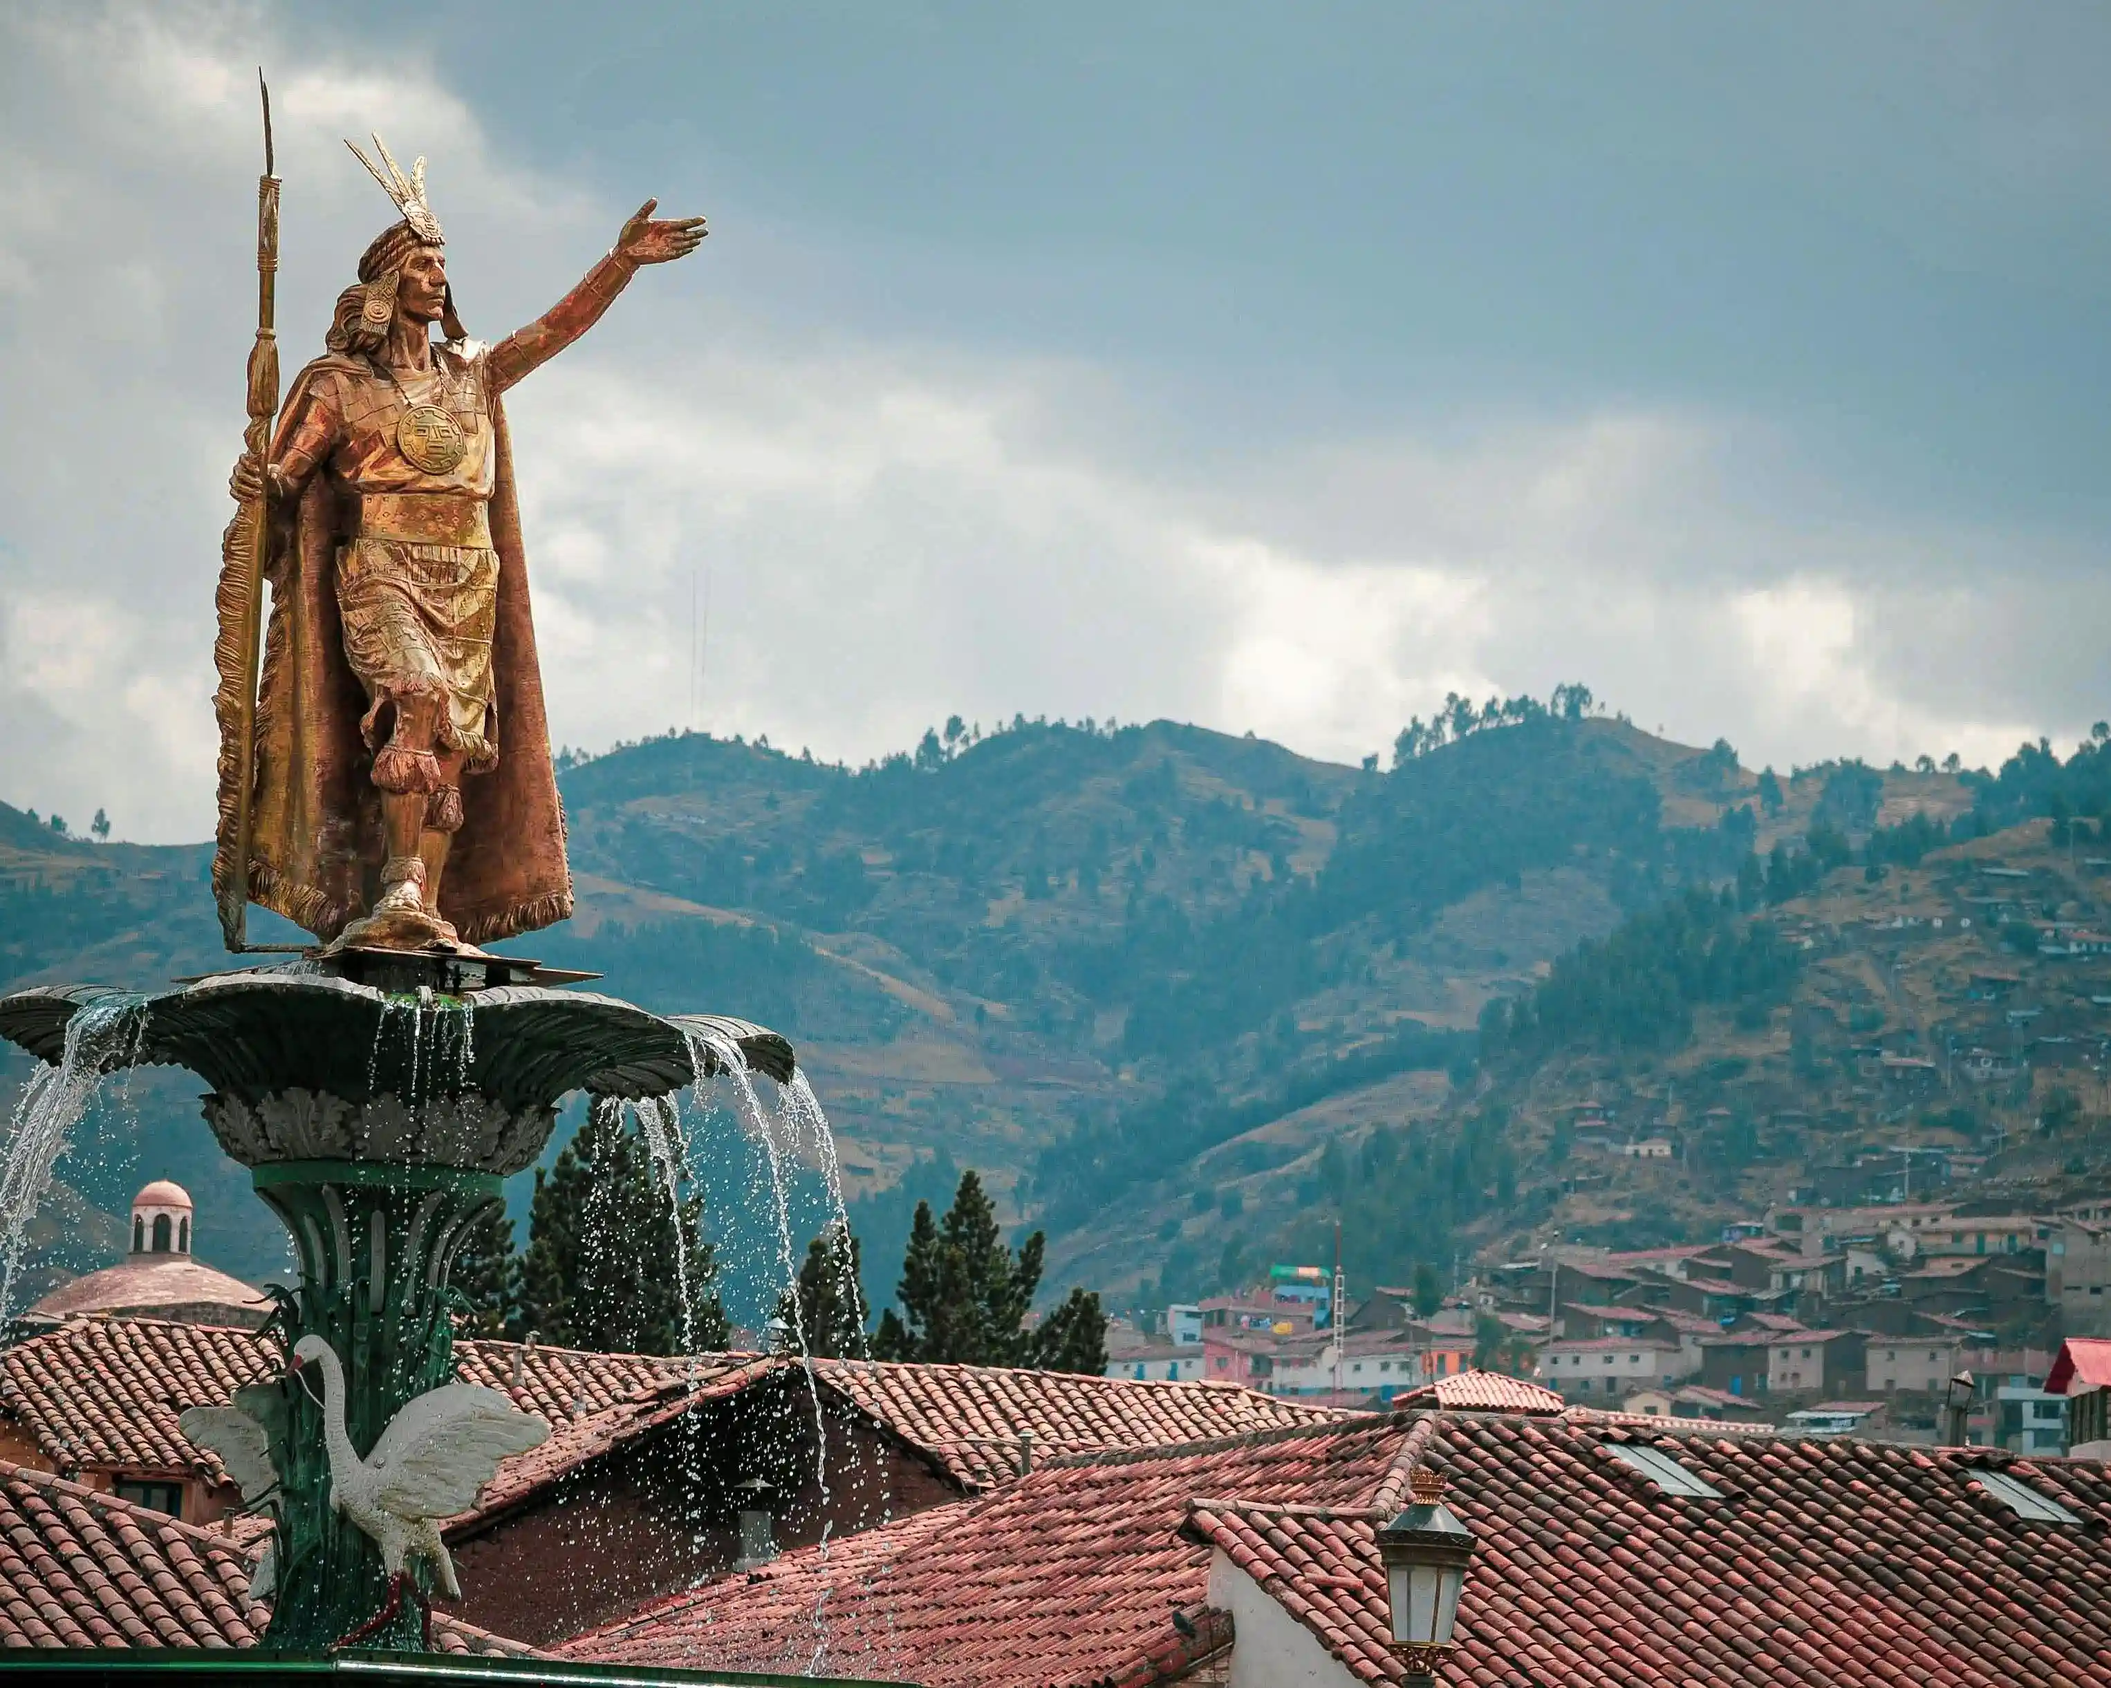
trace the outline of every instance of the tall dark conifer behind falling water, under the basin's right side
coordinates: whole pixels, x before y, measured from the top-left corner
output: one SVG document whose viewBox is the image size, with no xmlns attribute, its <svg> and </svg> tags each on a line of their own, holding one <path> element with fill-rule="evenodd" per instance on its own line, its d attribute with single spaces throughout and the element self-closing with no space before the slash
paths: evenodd
<svg viewBox="0 0 2111 1688">
<path fill-rule="evenodd" d="M 519 1327 L 602 1353 L 724 1348 L 726 1315 L 701 1230 L 703 1198 L 684 1194 L 678 1220 L 644 1133 L 625 1127 L 621 1104 L 595 1101 L 557 1165 L 536 1169 Z M 688 1317 L 678 1260 L 695 1304 Z"/>
</svg>

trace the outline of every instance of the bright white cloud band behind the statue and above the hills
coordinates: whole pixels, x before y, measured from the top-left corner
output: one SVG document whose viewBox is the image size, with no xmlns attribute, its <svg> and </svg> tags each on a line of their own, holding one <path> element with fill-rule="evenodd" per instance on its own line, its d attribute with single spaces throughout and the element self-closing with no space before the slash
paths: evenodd
<svg viewBox="0 0 2111 1688">
<path fill-rule="evenodd" d="M 211 817 L 211 582 L 251 331 L 251 68 L 279 65 L 281 344 L 386 222 L 338 143 L 433 158 L 464 310 L 555 298 L 627 207 L 498 158 L 433 65 L 226 6 L 0 21 L 0 795 Z M 726 236 L 720 236 L 726 238 Z M 2100 557 L 1860 509 L 1777 422 L 1564 414 L 1222 439 L 1119 363 L 868 327 L 648 272 L 509 399 L 551 722 L 861 760 L 961 711 L 1176 715 L 1330 757 L 1583 679 L 1750 762 L 1997 760 L 2105 713 Z M 794 251 L 787 245 L 785 251 Z M 773 262 L 792 262 L 779 253 Z M 692 660 L 697 646 L 701 663 Z"/>
</svg>

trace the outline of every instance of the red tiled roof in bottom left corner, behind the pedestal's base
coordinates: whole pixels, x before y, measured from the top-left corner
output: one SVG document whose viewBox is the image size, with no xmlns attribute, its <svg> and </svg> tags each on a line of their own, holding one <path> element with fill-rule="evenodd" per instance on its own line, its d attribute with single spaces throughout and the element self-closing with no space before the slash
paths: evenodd
<svg viewBox="0 0 2111 1688">
<path fill-rule="evenodd" d="M 239 1538 L 0 1462 L 0 1648 L 253 1648 Z M 441 1652 L 538 1656 L 443 1612 Z"/>
</svg>

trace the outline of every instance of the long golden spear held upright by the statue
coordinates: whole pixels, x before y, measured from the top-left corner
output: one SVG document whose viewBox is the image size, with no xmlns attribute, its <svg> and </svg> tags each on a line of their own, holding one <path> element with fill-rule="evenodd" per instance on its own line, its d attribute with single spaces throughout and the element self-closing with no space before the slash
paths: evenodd
<svg viewBox="0 0 2111 1688">
<path fill-rule="evenodd" d="M 272 418 L 279 414 L 279 177 L 272 173 L 270 89 L 258 70 L 264 99 L 264 175 L 258 177 L 258 338 L 249 348 L 249 454 L 262 464 L 270 447 Z M 270 479 L 255 498 L 243 500 L 220 540 L 220 589 L 215 608 L 220 633 L 213 665 L 220 690 L 220 833 L 213 855 L 213 895 L 228 950 L 243 952 L 249 924 L 249 846 L 255 823 L 255 722 L 258 663 L 264 631 L 264 559 L 270 523 Z"/>
</svg>

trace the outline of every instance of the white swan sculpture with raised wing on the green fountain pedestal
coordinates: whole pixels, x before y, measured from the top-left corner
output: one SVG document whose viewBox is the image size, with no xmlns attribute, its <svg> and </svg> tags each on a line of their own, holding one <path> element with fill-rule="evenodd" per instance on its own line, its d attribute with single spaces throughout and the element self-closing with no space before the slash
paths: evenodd
<svg viewBox="0 0 2111 1688">
<path fill-rule="evenodd" d="M 344 1365 L 321 1336 L 293 1344 L 293 1363 L 323 1367 L 323 1439 L 329 1450 L 329 1504 L 357 1523 L 382 1551 L 391 1599 L 401 1599 L 403 1561 L 416 1553 L 439 1576 L 448 1599 L 460 1599 L 454 1559 L 439 1538 L 439 1519 L 467 1513 L 498 1462 L 549 1439 L 549 1420 L 521 1412 L 496 1388 L 441 1384 L 412 1397 L 388 1420 L 363 1460 L 344 1431 Z"/>
</svg>

